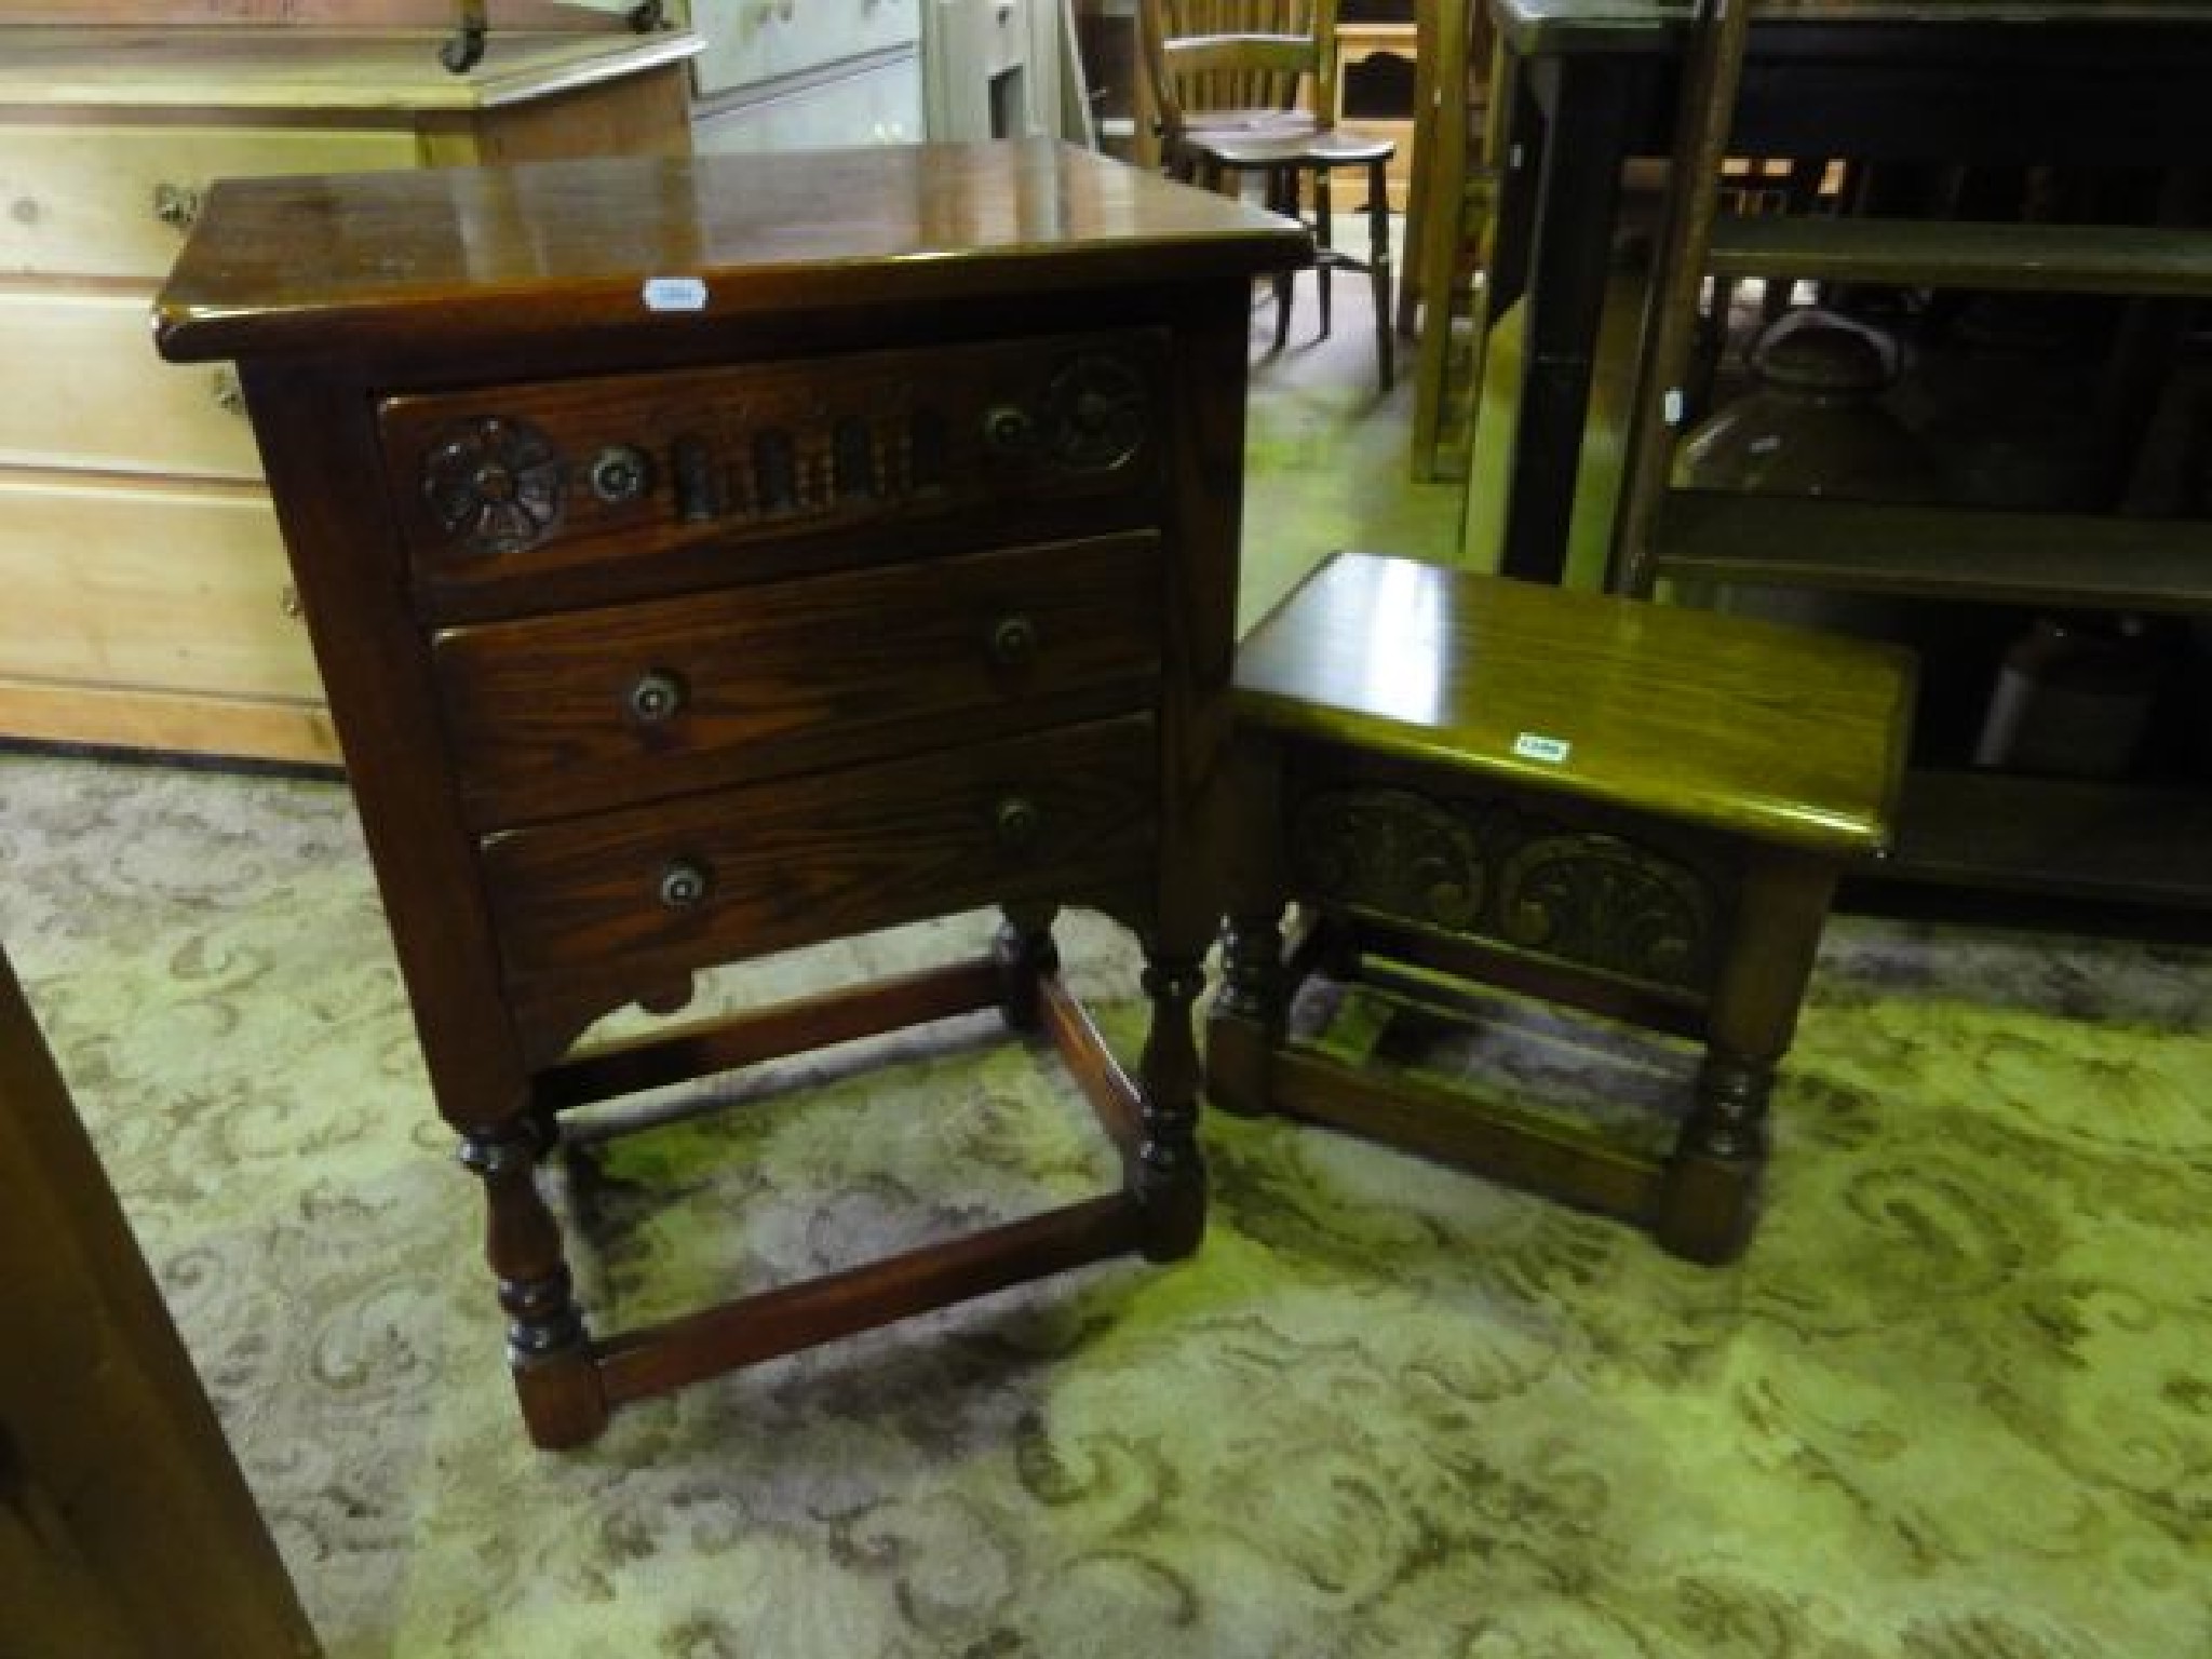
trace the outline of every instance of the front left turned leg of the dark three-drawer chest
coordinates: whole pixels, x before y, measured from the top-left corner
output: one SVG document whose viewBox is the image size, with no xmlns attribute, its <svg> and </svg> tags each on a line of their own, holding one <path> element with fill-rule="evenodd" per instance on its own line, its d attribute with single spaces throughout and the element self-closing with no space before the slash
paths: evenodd
<svg viewBox="0 0 2212 1659">
<path fill-rule="evenodd" d="M 560 1223 L 538 1190 L 535 1124 L 524 1115 L 462 1135 L 460 1161 L 484 1183 L 484 1261 L 507 1310 L 507 1365 L 540 1447 L 575 1447 L 606 1427 L 606 1396 L 568 1294 Z"/>
</svg>

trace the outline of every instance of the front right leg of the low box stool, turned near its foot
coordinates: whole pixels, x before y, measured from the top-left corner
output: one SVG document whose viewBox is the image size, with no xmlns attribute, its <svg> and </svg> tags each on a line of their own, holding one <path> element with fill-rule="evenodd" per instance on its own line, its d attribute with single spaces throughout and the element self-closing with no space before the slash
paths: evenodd
<svg viewBox="0 0 2212 1659">
<path fill-rule="evenodd" d="M 1756 856 L 1705 1020 L 1697 1102 L 1681 1126 L 1652 1234 L 1679 1256 L 1730 1261 L 1750 1239 L 1767 1159 L 1767 1095 L 1796 1035 L 1836 869 L 1818 858 Z"/>
</svg>

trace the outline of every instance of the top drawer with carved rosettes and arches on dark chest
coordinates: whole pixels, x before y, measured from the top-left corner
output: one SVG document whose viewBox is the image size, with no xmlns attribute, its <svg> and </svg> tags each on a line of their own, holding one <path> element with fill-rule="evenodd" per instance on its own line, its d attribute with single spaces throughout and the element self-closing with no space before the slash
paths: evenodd
<svg viewBox="0 0 2212 1659">
<path fill-rule="evenodd" d="M 1164 380 L 1161 336 L 1121 332 L 398 396 L 380 418 L 427 608 L 502 611 L 549 580 L 568 599 L 723 582 L 794 533 L 1060 502 L 1148 522 Z"/>
</svg>

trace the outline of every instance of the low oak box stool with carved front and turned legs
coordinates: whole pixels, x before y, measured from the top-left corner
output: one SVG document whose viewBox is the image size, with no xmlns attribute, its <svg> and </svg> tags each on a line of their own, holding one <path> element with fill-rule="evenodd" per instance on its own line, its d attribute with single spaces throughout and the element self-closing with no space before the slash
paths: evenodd
<svg viewBox="0 0 2212 1659">
<path fill-rule="evenodd" d="M 1836 878 L 1887 845 L 1911 697 L 1913 661 L 1889 646 L 1334 555 L 1239 653 L 1214 1102 L 1360 1130 L 1728 1261 Z M 1701 1040 L 1672 1150 L 1292 1040 L 1290 998 L 1323 958 L 1383 982 L 1398 967 L 1431 1002 L 1495 984 Z"/>
</svg>

